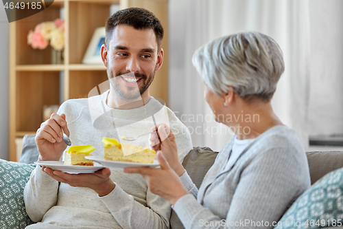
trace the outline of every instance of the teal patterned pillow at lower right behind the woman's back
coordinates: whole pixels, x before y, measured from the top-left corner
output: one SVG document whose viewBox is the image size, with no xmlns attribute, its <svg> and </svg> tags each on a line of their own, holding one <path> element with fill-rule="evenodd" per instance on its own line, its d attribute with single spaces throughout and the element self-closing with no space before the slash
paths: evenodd
<svg viewBox="0 0 343 229">
<path fill-rule="evenodd" d="M 287 210 L 274 229 L 343 226 L 343 168 L 318 180 Z"/>
</svg>

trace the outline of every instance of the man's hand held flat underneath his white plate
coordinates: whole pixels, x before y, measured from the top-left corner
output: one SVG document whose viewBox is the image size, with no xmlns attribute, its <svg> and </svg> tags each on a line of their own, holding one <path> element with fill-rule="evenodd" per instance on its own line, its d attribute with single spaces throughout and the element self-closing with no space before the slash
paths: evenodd
<svg viewBox="0 0 343 229">
<path fill-rule="evenodd" d="M 108 195 L 115 188 L 115 183 L 110 179 L 110 168 L 102 168 L 94 173 L 69 174 L 62 171 L 42 167 L 47 175 L 58 182 L 69 184 L 73 187 L 91 188 L 97 192 L 99 197 Z"/>
</svg>

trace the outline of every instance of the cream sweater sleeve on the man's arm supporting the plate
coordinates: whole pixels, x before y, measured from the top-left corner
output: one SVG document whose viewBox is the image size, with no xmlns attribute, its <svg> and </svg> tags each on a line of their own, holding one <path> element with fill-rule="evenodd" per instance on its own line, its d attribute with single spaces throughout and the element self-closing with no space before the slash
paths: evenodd
<svg viewBox="0 0 343 229">
<path fill-rule="evenodd" d="M 132 195 L 125 193 L 117 184 L 110 194 L 99 198 L 122 228 L 169 228 L 169 201 L 152 194 L 150 190 L 147 190 L 147 207 L 135 201 Z"/>
</svg>

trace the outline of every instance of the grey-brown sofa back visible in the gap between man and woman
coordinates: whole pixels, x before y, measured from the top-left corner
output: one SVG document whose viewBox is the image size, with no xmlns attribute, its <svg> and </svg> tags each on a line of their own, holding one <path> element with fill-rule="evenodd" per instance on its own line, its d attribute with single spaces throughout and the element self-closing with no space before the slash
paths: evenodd
<svg viewBox="0 0 343 229">
<path fill-rule="evenodd" d="M 187 170 L 189 177 L 199 188 L 202 179 L 217 157 L 218 152 L 211 150 L 209 147 L 194 147 L 183 160 L 182 165 Z M 184 229 L 178 215 L 174 210 L 171 211 L 170 226 L 172 229 Z"/>
</svg>

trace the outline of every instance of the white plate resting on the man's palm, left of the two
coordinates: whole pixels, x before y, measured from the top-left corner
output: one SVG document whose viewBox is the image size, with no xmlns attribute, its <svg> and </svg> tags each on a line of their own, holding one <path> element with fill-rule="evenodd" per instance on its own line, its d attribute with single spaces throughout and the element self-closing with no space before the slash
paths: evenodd
<svg viewBox="0 0 343 229">
<path fill-rule="evenodd" d="M 48 168 L 52 168 L 54 170 L 59 170 L 64 173 L 70 174 L 78 174 L 78 173 L 94 173 L 99 169 L 104 168 L 101 164 L 94 163 L 94 166 L 68 166 L 64 165 L 63 162 L 57 161 L 41 161 L 41 162 L 34 162 L 35 164 L 39 164 L 40 166 L 45 166 Z"/>
</svg>

